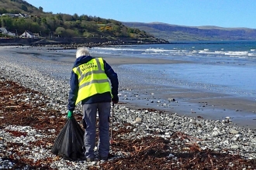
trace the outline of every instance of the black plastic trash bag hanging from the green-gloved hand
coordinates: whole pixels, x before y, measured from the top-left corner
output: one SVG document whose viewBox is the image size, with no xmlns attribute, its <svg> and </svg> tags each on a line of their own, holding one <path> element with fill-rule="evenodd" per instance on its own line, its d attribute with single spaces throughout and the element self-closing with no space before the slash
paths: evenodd
<svg viewBox="0 0 256 170">
<path fill-rule="evenodd" d="M 71 161 L 83 159 L 85 154 L 84 135 L 85 131 L 74 117 L 67 119 L 67 123 L 54 141 L 51 152 Z"/>
</svg>

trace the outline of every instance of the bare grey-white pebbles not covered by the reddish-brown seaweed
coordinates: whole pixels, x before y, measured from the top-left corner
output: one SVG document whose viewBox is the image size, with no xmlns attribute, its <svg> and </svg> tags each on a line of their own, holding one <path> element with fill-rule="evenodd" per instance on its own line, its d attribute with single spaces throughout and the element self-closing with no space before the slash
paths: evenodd
<svg viewBox="0 0 256 170">
<path fill-rule="evenodd" d="M 57 79 L 56 77 L 50 76 L 50 74 L 40 70 L 41 67 L 39 65 L 39 68 L 36 69 L 36 66 L 29 67 L 29 65 L 25 64 L 26 62 L 36 63 L 38 60 L 33 61 L 27 59 L 26 61 L 26 58 L 24 58 L 24 63 L 19 63 L 18 59 L 8 57 L 9 56 L 7 56 L 7 54 L 5 57 L 3 55 L 0 56 L 2 61 L 2 66 L 0 68 L 0 72 L 2 73 L 1 77 L 14 80 L 22 84 L 24 87 L 42 92 L 49 97 L 50 100 L 43 98 L 40 98 L 39 100 L 47 102 L 47 107 L 60 110 L 61 114 L 65 116 L 67 114 L 66 106 L 69 91 L 69 79 L 65 77 L 60 77 Z M 53 68 L 49 67 L 47 69 Z M 61 70 L 58 71 L 61 72 Z M 54 73 L 54 71 L 50 72 Z M 1 78 L 1 80 L 4 80 L 4 78 Z M 154 93 L 150 94 L 154 95 Z M 123 94 L 123 91 L 120 91 L 119 95 L 125 96 L 126 94 Z M 126 99 L 130 100 L 129 96 L 126 96 Z M 25 100 L 29 102 L 31 99 L 29 96 L 27 96 L 25 97 Z M 168 100 L 175 101 L 175 99 L 172 98 L 169 98 Z M 154 100 L 151 100 L 151 103 L 154 103 Z M 157 100 L 157 103 L 161 103 L 161 100 Z M 79 110 L 81 110 L 81 105 L 78 105 L 76 109 L 79 112 Z M 133 128 L 133 132 L 128 134 L 129 136 L 127 136 L 127 138 L 142 138 L 145 135 L 153 135 L 147 133 L 147 131 L 157 131 L 161 133 L 161 137 L 171 140 L 170 137 L 174 131 L 182 131 L 189 136 L 201 139 L 201 141 L 197 142 L 197 144 L 202 150 L 213 148 L 216 151 L 223 151 L 223 153 L 225 153 L 227 148 L 229 148 L 230 153 L 237 153 L 237 150 L 239 149 L 240 155 L 243 155 L 244 158 L 256 158 L 256 131 L 249 128 L 239 128 L 235 126 L 232 124 L 230 117 L 226 117 L 223 121 L 211 121 L 179 116 L 178 114 L 160 114 L 157 111 L 149 111 L 146 109 L 134 110 L 121 104 L 116 104 L 114 110 L 116 122 L 125 121 L 136 126 L 136 128 Z M 127 126 L 126 128 L 132 127 Z M 26 131 L 27 136 L 13 138 L 9 133 L 5 133 L 6 129 L 13 131 Z M 49 131 L 54 132 L 55 130 L 51 129 Z M 29 141 L 35 141 L 36 138 L 40 138 L 42 135 L 43 134 L 40 131 L 36 131 L 35 129 L 27 126 L 8 126 L 4 129 L 0 129 L 0 138 L 5 138 L 5 140 L 9 142 L 19 141 L 19 143 L 22 143 L 25 146 L 24 150 L 26 150 L 26 145 Z M 177 145 L 180 143 L 180 141 L 171 142 L 175 142 Z M 244 147 L 245 143 L 246 147 Z M 0 152 L 3 148 L 5 148 L 5 145 L 5 143 L 0 143 Z M 34 160 L 39 160 L 40 158 L 54 158 L 54 155 L 50 153 L 50 149 L 35 148 L 35 150 L 31 152 L 31 155 L 28 155 L 28 157 L 34 158 Z M 174 158 L 175 155 L 170 154 L 168 157 Z M 13 164 L 14 162 L 2 161 L 0 156 L 0 168 L 12 168 Z M 53 162 L 51 167 L 68 169 L 68 164 L 69 162 L 67 160 L 61 159 Z M 96 162 L 89 162 L 86 164 L 84 162 L 72 162 L 72 165 L 78 168 L 87 168 L 88 165 L 97 166 Z"/>
</svg>

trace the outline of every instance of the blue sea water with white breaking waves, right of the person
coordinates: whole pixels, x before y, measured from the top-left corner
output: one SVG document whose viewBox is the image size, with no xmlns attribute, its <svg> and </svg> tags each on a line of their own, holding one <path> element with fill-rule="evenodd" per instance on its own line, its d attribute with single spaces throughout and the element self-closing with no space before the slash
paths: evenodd
<svg viewBox="0 0 256 170">
<path fill-rule="evenodd" d="M 192 63 L 123 65 L 159 81 L 146 82 L 227 93 L 255 100 L 256 42 L 178 42 L 164 45 L 109 46 L 90 49 L 93 55 L 186 60 Z M 140 75 L 140 76 L 141 76 Z"/>
</svg>

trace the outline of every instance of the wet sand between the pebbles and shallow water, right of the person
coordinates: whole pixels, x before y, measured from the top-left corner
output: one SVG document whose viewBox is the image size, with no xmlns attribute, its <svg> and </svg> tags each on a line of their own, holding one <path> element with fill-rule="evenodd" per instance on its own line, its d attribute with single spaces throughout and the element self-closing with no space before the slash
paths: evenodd
<svg viewBox="0 0 256 170">
<path fill-rule="evenodd" d="M 154 94 L 151 94 L 154 93 Z M 202 93 L 178 88 L 161 90 L 133 90 L 130 100 L 121 100 L 126 106 L 135 108 L 154 108 L 171 114 L 207 120 L 225 120 L 230 117 L 241 128 L 256 129 L 256 106 L 252 100 L 232 97 L 220 93 Z M 138 97 L 134 97 L 138 95 Z M 168 99 L 175 99 L 169 101 Z M 154 103 L 151 103 L 154 102 Z"/>
</svg>

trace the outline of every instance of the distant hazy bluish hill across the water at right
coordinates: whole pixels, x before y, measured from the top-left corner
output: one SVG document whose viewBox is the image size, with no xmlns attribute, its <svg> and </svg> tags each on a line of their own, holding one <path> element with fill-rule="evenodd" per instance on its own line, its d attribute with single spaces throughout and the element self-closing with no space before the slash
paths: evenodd
<svg viewBox="0 0 256 170">
<path fill-rule="evenodd" d="M 256 29 L 223 28 L 217 26 L 177 26 L 161 22 L 123 22 L 125 26 L 144 30 L 171 41 L 256 40 Z"/>
</svg>

